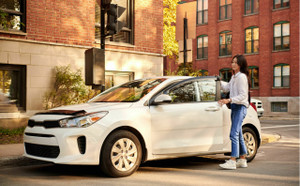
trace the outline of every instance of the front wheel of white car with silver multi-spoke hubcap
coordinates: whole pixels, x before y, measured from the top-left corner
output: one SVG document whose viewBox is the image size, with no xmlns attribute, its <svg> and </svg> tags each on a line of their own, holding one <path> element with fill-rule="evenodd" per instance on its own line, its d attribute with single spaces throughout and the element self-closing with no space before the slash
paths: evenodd
<svg viewBox="0 0 300 186">
<path fill-rule="evenodd" d="M 111 177 L 124 177 L 133 174 L 140 166 L 142 146 L 139 139 L 131 132 L 119 130 L 105 140 L 100 168 Z"/>
</svg>

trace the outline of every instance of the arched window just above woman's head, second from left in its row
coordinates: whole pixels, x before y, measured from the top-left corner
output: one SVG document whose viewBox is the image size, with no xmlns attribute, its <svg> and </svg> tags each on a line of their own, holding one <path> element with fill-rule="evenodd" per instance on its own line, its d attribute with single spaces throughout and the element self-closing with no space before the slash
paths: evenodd
<svg viewBox="0 0 300 186">
<path fill-rule="evenodd" d="M 220 56 L 231 55 L 232 32 L 231 31 L 221 32 L 219 39 L 220 39 L 219 55 Z"/>
</svg>

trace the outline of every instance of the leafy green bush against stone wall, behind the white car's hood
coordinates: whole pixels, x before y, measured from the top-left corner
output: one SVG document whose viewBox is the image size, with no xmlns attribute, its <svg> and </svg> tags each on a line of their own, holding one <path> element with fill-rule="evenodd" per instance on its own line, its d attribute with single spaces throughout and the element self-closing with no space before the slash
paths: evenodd
<svg viewBox="0 0 300 186">
<path fill-rule="evenodd" d="M 63 105 L 85 103 L 100 91 L 86 86 L 81 70 L 72 72 L 70 66 L 55 67 L 55 83 L 53 89 L 47 92 L 43 99 L 43 107 L 51 109 Z"/>
</svg>

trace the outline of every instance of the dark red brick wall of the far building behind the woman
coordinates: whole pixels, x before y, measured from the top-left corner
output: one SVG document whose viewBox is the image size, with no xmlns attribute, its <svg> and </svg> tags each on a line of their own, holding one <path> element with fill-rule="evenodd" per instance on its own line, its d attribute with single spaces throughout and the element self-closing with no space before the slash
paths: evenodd
<svg viewBox="0 0 300 186">
<path fill-rule="evenodd" d="M 189 0 L 190 2 L 192 0 Z M 273 51 L 273 24 L 290 22 L 290 50 Z M 290 7 L 273 10 L 273 0 L 259 1 L 259 12 L 244 15 L 244 1 L 232 0 L 232 19 L 219 20 L 219 1 L 208 1 L 208 24 L 196 26 L 196 36 L 208 35 L 208 59 L 197 60 L 197 39 L 193 40 L 193 65 L 219 74 L 231 68 L 231 58 L 244 54 L 245 29 L 259 27 L 259 53 L 245 54 L 249 66 L 259 68 L 259 89 L 252 89 L 253 97 L 299 96 L 299 0 L 290 0 Z M 219 56 L 219 33 L 232 31 L 232 56 Z M 273 67 L 279 63 L 290 65 L 290 87 L 273 88 Z M 172 66 L 174 68 L 174 66 Z"/>
</svg>

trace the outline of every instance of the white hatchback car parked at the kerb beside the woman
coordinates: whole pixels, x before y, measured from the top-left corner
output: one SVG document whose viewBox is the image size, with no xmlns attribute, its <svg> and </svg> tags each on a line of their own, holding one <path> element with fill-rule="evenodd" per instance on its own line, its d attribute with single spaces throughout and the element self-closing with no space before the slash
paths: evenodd
<svg viewBox="0 0 300 186">
<path fill-rule="evenodd" d="M 88 103 L 37 113 L 25 156 L 56 164 L 100 165 L 112 177 L 150 160 L 230 153 L 230 109 L 216 77 L 156 77 L 110 88 Z M 256 111 L 243 123 L 248 161 L 261 144 Z"/>
</svg>

